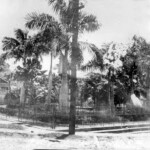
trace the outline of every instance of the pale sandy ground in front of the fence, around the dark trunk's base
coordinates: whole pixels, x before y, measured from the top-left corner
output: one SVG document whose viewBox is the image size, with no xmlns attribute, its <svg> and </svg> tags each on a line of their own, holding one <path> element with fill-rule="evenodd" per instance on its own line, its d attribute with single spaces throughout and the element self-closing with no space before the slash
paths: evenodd
<svg viewBox="0 0 150 150">
<path fill-rule="evenodd" d="M 111 129 L 111 125 L 107 130 L 98 130 L 98 126 L 94 131 L 85 126 L 68 136 L 67 127 L 53 130 L 1 117 L 0 150 L 150 150 L 149 130 L 111 133 L 122 128 Z"/>
</svg>

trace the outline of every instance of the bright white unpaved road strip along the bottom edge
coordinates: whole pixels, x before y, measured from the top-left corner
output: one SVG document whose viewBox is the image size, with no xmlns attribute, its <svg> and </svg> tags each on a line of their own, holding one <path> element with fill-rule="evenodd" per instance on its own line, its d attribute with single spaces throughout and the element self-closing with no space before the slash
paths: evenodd
<svg viewBox="0 0 150 150">
<path fill-rule="evenodd" d="M 0 150 L 150 150 L 150 136 L 99 136 L 51 138 L 23 138 L 0 136 Z"/>
</svg>

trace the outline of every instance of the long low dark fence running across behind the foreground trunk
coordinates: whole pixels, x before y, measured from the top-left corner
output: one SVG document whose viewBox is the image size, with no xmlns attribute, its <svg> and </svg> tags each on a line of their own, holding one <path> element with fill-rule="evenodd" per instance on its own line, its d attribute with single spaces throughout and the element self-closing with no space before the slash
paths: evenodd
<svg viewBox="0 0 150 150">
<path fill-rule="evenodd" d="M 76 124 L 100 124 L 100 123 L 125 123 L 127 120 L 144 120 L 150 116 L 150 111 L 139 107 L 116 108 L 112 115 L 107 106 L 97 108 L 76 108 Z M 0 113 L 4 117 L 14 117 L 19 121 L 28 121 L 35 124 L 49 125 L 55 128 L 57 125 L 69 123 L 69 108 L 58 105 L 32 105 L 15 106 L 14 108 L 0 107 Z"/>
</svg>

